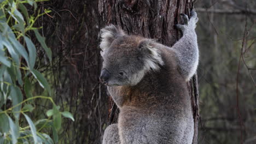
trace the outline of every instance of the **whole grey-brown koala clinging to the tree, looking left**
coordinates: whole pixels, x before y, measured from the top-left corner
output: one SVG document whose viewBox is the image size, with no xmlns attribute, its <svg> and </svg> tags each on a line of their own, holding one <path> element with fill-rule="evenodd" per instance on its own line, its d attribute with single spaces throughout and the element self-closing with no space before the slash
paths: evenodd
<svg viewBox="0 0 256 144">
<path fill-rule="evenodd" d="M 183 36 L 172 47 L 110 25 L 101 29 L 100 80 L 120 109 L 118 123 L 104 131 L 103 144 L 191 144 L 194 119 L 187 82 L 195 74 L 198 21 L 182 15 Z"/>
</svg>

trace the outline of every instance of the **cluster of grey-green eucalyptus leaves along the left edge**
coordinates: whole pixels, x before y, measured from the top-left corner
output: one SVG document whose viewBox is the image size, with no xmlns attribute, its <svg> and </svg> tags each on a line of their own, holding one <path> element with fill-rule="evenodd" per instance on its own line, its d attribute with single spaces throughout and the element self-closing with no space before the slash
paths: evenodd
<svg viewBox="0 0 256 144">
<path fill-rule="evenodd" d="M 38 28 L 34 27 L 36 20 L 50 13 L 50 10 L 40 13 L 37 2 L 40 1 L 0 0 L 0 143 L 56 143 L 62 116 L 74 121 L 71 113 L 60 112 L 60 106 L 49 97 L 49 83 L 34 68 L 37 65 L 37 49 L 43 49 L 51 61 L 51 50 Z M 28 7 L 34 9 L 34 14 L 30 15 Z M 30 38 L 33 35 L 42 48 L 34 45 Z M 33 96 L 34 81 L 49 95 Z M 33 122 L 30 116 L 36 107 L 35 99 L 49 100 L 53 106 L 45 113 L 48 118 L 38 119 L 37 122 Z M 52 129 L 53 139 L 44 129 Z"/>
</svg>

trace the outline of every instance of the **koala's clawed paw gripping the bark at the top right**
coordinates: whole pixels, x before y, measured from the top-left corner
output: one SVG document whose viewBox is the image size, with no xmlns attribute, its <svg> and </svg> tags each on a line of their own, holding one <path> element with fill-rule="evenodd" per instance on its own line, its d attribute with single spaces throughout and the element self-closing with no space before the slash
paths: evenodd
<svg viewBox="0 0 256 144">
<path fill-rule="evenodd" d="M 188 30 L 194 30 L 196 28 L 196 22 L 198 21 L 198 17 L 195 11 L 190 11 L 190 20 L 187 15 L 181 14 L 182 20 L 184 21 L 184 25 L 177 24 L 174 27 L 182 31 L 182 33 L 186 33 Z"/>
</svg>

